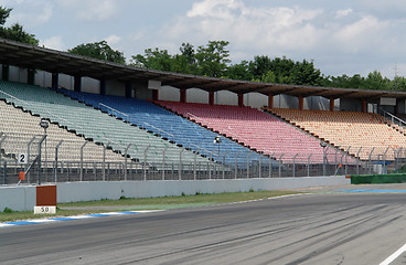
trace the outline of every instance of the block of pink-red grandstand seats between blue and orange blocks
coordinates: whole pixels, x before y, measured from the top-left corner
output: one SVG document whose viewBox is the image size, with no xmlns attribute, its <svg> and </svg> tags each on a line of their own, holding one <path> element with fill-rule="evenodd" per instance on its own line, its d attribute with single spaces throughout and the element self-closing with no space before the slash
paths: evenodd
<svg viewBox="0 0 406 265">
<path fill-rule="evenodd" d="M 293 159 L 299 163 L 323 162 L 319 139 L 258 109 L 178 102 L 157 104 L 284 162 L 292 162 Z M 334 156 L 336 153 L 331 149 L 329 160 L 334 161 Z"/>
</svg>

